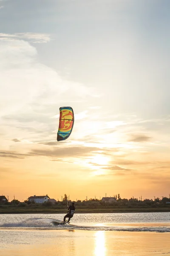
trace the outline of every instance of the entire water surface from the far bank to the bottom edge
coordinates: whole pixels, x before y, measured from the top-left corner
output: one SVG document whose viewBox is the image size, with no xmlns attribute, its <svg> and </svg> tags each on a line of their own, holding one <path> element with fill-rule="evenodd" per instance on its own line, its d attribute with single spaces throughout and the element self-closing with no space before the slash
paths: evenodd
<svg viewBox="0 0 170 256">
<path fill-rule="evenodd" d="M 170 255 L 170 212 L 64 215 L 1 214 L 0 256 Z"/>
</svg>

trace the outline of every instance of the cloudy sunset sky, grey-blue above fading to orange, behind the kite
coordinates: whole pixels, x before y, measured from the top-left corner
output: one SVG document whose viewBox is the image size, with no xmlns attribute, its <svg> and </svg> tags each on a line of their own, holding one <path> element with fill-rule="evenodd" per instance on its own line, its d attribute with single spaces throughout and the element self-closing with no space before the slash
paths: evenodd
<svg viewBox="0 0 170 256">
<path fill-rule="evenodd" d="M 168 197 L 169 12 L 169 0 L 0 0 L 0 195 Z M 62 106 L 75 122 L 57 142 Z"/>
</svg>

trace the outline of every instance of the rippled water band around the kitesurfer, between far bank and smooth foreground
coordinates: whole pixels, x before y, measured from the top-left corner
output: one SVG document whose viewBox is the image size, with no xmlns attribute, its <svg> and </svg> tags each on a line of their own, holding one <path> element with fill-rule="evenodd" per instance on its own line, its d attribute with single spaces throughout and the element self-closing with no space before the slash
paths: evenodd
<svg viewBox="0 0 170 256">
<path fill-rule="evenodd" d="M 75 214 L 70 224 L 56 225 L 65 214 L 1 214 L 0 230 L 116 230 L 170 232 L 170 212 Z"/>
</svg>

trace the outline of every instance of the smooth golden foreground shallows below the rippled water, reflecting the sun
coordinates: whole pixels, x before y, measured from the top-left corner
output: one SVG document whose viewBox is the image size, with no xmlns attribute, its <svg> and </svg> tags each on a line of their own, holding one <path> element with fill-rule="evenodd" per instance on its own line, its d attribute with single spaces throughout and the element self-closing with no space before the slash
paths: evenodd
<svg viewBox="0 0 170 256">
<path fill-rule="evenodd" d="M 13 233 L 15 241 L 6 247 L 8 232 Z M 4 240 L 0 256 L 170 255 L 170 233 L 4 229 L 0 230 L 0 237 L 1 242 Z M 18 238 L 21 239 L 17 241 Z M 23 244 L 27 239 L 28 244 Z"/>
</svg>

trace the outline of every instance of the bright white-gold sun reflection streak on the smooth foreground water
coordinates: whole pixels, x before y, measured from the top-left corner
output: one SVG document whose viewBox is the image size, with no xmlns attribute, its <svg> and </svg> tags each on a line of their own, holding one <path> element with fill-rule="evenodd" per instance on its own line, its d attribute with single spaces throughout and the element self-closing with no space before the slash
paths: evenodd
<svg viewBox="0 0 170 256">
<path fill-rule="evenodd" d="M 105 247 L 105 231 L 96 231 L 95 233 L 95 256 L 105 256 L 106 254 Z"/>
</svg>

